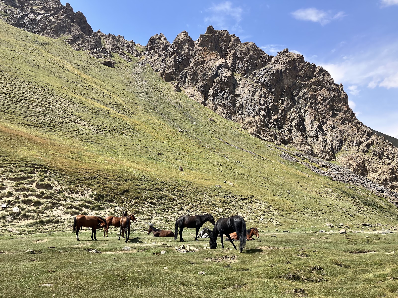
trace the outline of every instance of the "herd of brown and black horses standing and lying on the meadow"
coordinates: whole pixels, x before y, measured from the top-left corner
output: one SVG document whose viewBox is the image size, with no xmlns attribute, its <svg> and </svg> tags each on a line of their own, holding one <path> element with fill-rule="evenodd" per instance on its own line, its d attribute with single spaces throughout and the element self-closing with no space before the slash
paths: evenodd
<svg viewBox="0 0 398 298">
<path fill-rule="evenodd" d="M 110 226 L 120 227 L 119 239 L 123 236 L 126 238 L 125 242 L 129 241 L 130 238 L 130 225 L 131 221 L 134 223 L 137 222 L 134 214 L 127 215 L 127 212 L 124 212 L 121 217 L 109 216 L 106 219 L 103 219 L 98 216 L 87 216 L 87 215 L 77 215 L 73 218 L 73 232 L 76 231 L 76 239 L 79 240 L 79 230 L 82 227 L 92 228 L 91 239 L 97 240 L 96 232 L 99 228 L 104 228 L 103 236 L 105 238 L 108 237 L 108 230 Z M 231 217 L 222 217 L 217 223 L 215 222 L 213 215 L 204 214 L 204 215 L 183 215 L 180 216 L 176 220 L 176 232 L 173 233 L 170 230 L 160 230 L 154 228 L 152 225 L 148 229 L 148 234 L 151 232 L 154 234 L 154 237 L 174 237 L 174 240 L 177 240 L 178 236 L 178 228 L 179 228 L 179 240 L 184 241 L 182 238 L 182 231 L 184 228 L 196 228 L 196 236 L 195 240 L 198 240 L 198 233 L 200 228 L 204 223 L 209 221 L 214 225 L 213 231 L 207 229 L 208 233 L 210 233 L 210 248 L 217 248 L 217 237 L 220 237 L 221 240 L 221 248 L 224 248 L 224 238 L 223 235 L 226 235 L 226 239 L 228 239 L 232 246 L 236 248 L 233 240 L 239 240 L 239 251 L 242 252 L 243 248 L 246 245 L 246 240 L 253 240 L 252 236 L 256 235 L 259 238 L 258 229 L 250 228 L 246 230 L 246 222 L 243 217 L 239 215 L 234 215 Z M 126 236 L 125 236 L 126 235 Z M 93 238 L 94 236 L 94 238 Z"/>
</svg>

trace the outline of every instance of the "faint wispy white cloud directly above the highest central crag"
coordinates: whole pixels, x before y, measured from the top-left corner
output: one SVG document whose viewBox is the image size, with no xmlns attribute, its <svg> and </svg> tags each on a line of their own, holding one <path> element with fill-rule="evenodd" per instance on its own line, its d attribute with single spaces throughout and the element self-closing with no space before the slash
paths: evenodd
<svg viewBox="0 0 398 298">
<path fill-rule="evenodd" d="M 217 29 L 242 32 L 239 22 L 242 21 L 244 11 L 240 6 L 233 6 L 230 1 L 221 2 L 219 4 L 213 3 L 206 12 L 210 14 L 204 18 L 207 25 L 213 25 Z"/>
</svg>

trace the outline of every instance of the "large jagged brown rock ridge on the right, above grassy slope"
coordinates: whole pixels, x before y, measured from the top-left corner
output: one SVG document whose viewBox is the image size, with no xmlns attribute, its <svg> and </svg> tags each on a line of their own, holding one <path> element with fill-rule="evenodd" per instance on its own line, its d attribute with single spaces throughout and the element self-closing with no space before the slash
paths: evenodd
<svg viewBox="0 0 398 298">
<path fill-rule="evenodd" d="M 212 26 L 195 42 L 185 31 L 173 43 L 154 35 L 144 54 L 165 81 L 251 134 L 398 186 L 398 149 L 359 122 L 343 85 L 302 55 L 269 56 Z"/>
</svg>

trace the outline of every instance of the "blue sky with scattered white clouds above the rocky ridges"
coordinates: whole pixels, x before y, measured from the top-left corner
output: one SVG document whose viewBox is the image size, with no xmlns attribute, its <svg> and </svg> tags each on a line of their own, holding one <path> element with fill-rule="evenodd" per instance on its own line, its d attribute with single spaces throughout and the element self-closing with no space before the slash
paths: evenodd
<svg viewBox="0 0 398 298">
<path fill-rule="evenodd" d="M 360 121 L 398 137 L 398 0 L 68 3 L 94 30 L 142 45 L 160 32 L 170 42 L 183 30 L 196 40 L 213 25 L 267 54 L 289 48 L 343 83 Z"/>
</svg>

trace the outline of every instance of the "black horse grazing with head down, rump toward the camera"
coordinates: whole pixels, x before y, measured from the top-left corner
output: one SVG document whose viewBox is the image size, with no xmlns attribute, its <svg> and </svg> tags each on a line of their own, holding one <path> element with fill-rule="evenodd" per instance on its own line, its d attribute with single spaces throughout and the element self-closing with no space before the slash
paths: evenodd
<svg viewBox="0 0 398 298">
<path fill-rule="evenodd" d="M 234 215 L 231 217 L 224 217 L 220 218 L 214 226 L 213 232 L 210 236 L 210 248 L 214 249 L 217 248 L 217 236 L 220 234 L 221 239 L 221 248 L 224 248 L 224 242 L 222 235 L 226 234 L 228 240 L 232 243 L 234 248 L 236 246 L 231 239 L 230 234 L 236 232 L 237 236 L 239 237 L 239 251 L 242 252 L 243 248 L 246 245 L 246 222 L 243 217 L 239 215 Z"/>
</svg>

